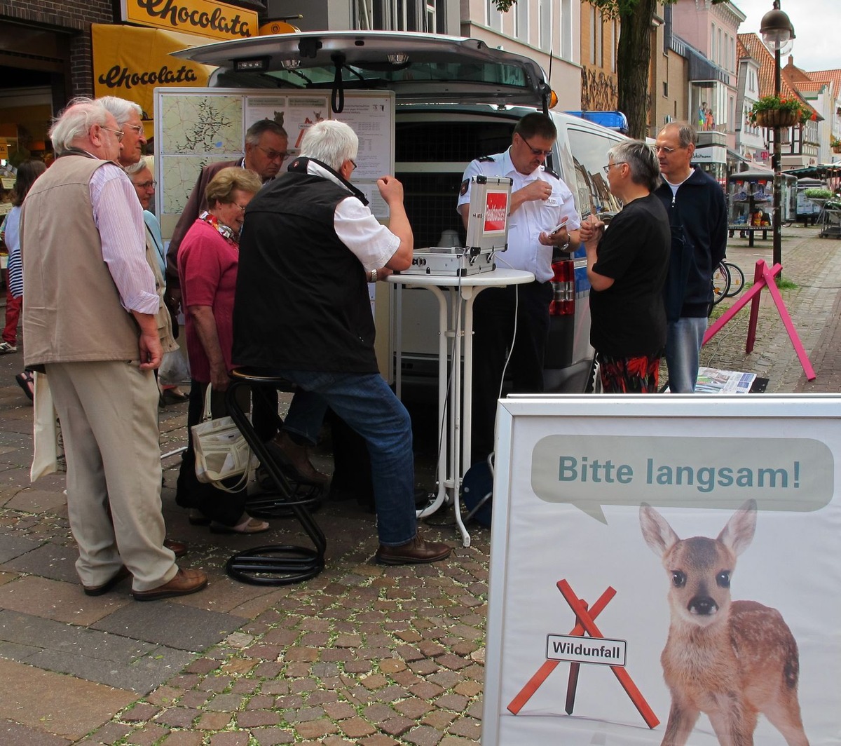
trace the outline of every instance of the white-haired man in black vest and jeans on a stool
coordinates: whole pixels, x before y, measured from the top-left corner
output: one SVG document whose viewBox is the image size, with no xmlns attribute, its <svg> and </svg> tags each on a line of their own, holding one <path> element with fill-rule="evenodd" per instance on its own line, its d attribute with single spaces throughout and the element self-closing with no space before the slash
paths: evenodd
<svg viewBox="0 0 841 746">
<path fill-rule="evenodd" d="M 403 185 L 378 180 L 390 230 L 348 181 L 359 141 L 342 122 L 315 124 L 288 172 L 246 209 L 234 304 L 238 365 L 267 368 L 295 394 L 274 447 L 287 458 L 315 443 L 329 406 L 368 444 L 379 548 L 388 564 L 447 558 L 418 536 L 409 413 L 378 373 L 368 282 L 410 266 Z"/>
</svg>

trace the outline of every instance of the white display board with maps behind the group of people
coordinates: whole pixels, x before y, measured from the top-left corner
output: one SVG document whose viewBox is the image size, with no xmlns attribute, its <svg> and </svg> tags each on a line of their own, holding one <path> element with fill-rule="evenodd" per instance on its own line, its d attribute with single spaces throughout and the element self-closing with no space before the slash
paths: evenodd
<svg viewBox="0 0 841 746">
<path fill-rule="evenodd" d="M 260 119 L 273 119 L 289 135 L 288 167 L 300 151 L 304 133 L 320 119 L 341 119 L 359 137 L 353 183 L 371 201 L 380 220 L 388 208 L 377 179 L 394 173 L 394 92 L 348 91 L 341 114 L 331 113 L 330 92 L 272 91 L 265 88 L 155 89 L 156 214 L 165 239 L 181 216 L 198 179 L 212 161 L 245 155 L 246 130 Z"/>
</svg>

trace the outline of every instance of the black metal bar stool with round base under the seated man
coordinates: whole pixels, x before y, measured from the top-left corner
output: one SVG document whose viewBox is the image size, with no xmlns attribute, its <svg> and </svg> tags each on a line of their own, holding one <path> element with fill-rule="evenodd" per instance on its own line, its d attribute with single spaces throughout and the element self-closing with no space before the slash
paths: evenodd
<svg viewBox="0 0 841 746">
<path fill-rule="evenodd" d="M 231 381 L 225 394 L 225 404 L 230 418 L 239 427 L 242 436 L 260 459 L 260 463 L 266 468 L 277 488 L 276 491 L 261 495 L 260 505 L 263 506 L 263 511 L 260 515 L 277 516 L 277 511 L 288 511 L 288 514 L 297 518 L 303 526 L 314 548 L 292 544 L 269 544 L 264 547 L 246 549 L 228 560 L 225 571 L 231 578 L 251 585 L 289 585 L 315 578 L 324 569 L 327 542 L 324 532 L 321 531 L 307 508 L 307 505 L 312 505 L 314 500 L 312 491 L 305 492 L 298 498 L 297 490 L 293 488 L 286 475 L 283 474 L 280 464 L 272 458 L 271 452 L 257 436 L 236 395 L 243 386 L 249 389 L 271 387 L 287 392 L 294 391 L 296 387 L 286 378 L 272 376 L 253 368 L 237 368 L 230 377 Z M 254 511 L 253 515 L 258 515 L 257 511 Z"/>
</svg>

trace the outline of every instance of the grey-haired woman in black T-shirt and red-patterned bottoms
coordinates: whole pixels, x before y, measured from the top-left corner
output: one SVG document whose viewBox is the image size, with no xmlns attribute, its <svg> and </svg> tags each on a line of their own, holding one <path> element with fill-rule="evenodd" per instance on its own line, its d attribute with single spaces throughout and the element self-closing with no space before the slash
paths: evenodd
<svg viewBox="0 0 841 746">
<path fill-rule="evenodd" d="M 590 279 L 590 344 L 602 389 L 656 393 L 666 345 L 663 285 L 669 272 L 669 214 L 653 194 L 657 156 L 640 140 L 608 151 L 607 182 L 622 209 L 610 228 L 591 215 L 581 224 Z"/>
</svg>

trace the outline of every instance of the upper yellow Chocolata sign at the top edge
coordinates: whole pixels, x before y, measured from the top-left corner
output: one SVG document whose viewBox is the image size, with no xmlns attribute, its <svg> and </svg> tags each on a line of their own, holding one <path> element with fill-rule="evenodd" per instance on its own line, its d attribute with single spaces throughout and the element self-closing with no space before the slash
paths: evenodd
<svg viewBox="0 0 841 746">
<path fill-rule="evenodd" d="M 257 36 L 257 13 L 215 0 L 120 0 L 123 20 L 209 39 Z"/>
</svg>

